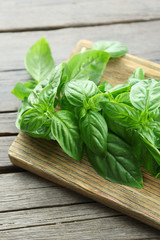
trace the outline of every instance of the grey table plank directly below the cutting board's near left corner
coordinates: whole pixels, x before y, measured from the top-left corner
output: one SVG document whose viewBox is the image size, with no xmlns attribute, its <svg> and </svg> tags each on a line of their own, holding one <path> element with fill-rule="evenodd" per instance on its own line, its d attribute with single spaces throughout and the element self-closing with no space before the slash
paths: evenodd
<svg viewBox="0 0 160 240">
<path fill-rule="evenodd" d="M 93 202 L 28 172 L 0 174 L 0 213 Z"/>
</svg>

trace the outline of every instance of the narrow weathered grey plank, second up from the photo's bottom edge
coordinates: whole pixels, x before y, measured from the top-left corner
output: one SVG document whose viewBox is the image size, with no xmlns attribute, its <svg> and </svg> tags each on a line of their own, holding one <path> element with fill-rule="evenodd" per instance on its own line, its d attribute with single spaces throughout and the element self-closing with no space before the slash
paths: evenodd
<svg viewBox="0 0 160 240">
<path fill-rule="evenodd" d="M 0 231 L 35 227 L 47 224 L 60 224 L 97 218 L 119 216 L 120 213 L 99 203 L 71 204 L 68 206 L 34 208 L 3 212 L 0 214 Z"/>
</svg>

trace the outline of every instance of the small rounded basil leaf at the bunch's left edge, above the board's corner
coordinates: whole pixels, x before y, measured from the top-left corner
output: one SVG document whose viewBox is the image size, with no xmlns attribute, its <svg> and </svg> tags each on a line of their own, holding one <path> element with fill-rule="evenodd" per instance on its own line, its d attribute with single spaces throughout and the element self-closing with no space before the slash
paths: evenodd
<svg viewBox="0 0 160 240">
<path fill-rule="evenodd" d="M 25 112 L 21 118 L 20 128 L 24 132 L 32 132 L 39 129 L 46 121 L 47 116 L 43 112 L 32 108 Z"/>
</svg>

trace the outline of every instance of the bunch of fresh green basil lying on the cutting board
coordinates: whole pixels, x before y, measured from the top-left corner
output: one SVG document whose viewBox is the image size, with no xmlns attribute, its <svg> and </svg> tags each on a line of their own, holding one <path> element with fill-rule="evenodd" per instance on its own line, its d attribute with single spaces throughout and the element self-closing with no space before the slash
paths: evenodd
<svg viewBox="0 0 160 240">
<path fill-rule="evenodd" d="M 85 152 L 104 178 L 142 188 L 141 166 L 160 174 L 160 81 L 145 80 L 137 68 L 125 84 L 97 86 L 109 58 L 126 52 L 119 42 L 101 41 L 55 67 L 41 38 L 25 57 L 34 81 L 18 82 L 12 93 L 22 100 L 17 128 L 58 141 L 78 161 Z"/>
</svg>

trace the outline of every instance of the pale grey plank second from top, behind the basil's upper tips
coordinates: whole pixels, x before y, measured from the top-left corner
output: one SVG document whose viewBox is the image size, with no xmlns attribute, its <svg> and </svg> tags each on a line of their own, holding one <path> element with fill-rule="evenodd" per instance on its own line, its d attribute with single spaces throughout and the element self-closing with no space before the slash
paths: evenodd
<svg viewBox="0 0 160 240">
<path fill-rule="evenodd" d="M 24 69 L 26 51 L 42 36 L 49 41 L 56 64 L 65 61 L 73 46 L 84 36 L 91 41 L 121 41 L 128 46 L 129 53 L 160 62 L 159 26 L 160 21 L 154 21 L 55 31 L 1 33 L 0 71 Z"/>
</svg>

